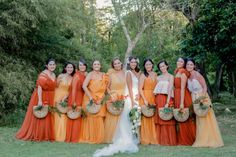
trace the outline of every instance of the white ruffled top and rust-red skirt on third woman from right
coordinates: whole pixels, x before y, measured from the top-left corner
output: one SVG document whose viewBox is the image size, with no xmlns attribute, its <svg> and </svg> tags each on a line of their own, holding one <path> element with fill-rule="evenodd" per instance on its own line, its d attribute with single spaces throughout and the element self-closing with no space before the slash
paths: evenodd
<svg viewBox="0 0 236 157">
<path fill-rule="evenodd" d="M 157 111 L 159 108 L 165 107 L 166 100 L 168 97 L 169 81 L 160 80 L 157 83 L 156 99 Z M 169 107 L 173 105 L 173 99 L 170 99 Z M 165 121 L 162 120 L 159 115 L 157 115 L 157 125 L 159 125 L 159 140 L 160 145 L 174 146 L 177 145 L 177 135 L 176 135 L 176 121 L 174 119 Z"/>
</svg>

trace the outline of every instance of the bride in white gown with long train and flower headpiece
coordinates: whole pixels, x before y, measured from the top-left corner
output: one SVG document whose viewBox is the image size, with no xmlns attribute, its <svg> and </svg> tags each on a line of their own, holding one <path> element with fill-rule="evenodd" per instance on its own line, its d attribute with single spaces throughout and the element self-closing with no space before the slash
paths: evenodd
<svg viewBox="0 0 236 157">
<path fill-rule="evenodd" d="M 102 149 L 96 150 L 93 157 L 111 156 L 115 153 L 135 153 L 138 152 L 137 139 L 132 134 L 132 124 L 129 120 L 129 112 L 134 106 L 138 104 L 138 77 L 140 76 L 138 68 L 138 59 L 135 57 L 128 58 L 128 71 L 126 72 L 126 89 L 124 110 L 121 113 L 112 144 Z"/>
</svg>

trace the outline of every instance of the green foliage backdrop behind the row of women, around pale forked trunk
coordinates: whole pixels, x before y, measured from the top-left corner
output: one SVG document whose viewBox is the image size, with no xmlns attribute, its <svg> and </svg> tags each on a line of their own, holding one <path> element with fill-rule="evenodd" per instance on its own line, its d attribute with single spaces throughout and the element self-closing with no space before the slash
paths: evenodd
<svg viewBox="0 0 236 157">
<path fill-rule="evenodd" d="M 151 24 L 132 54 L 157 64 L 165 59 L 173 73 L 179 56 L 194 57 L 214 99 L 236 96 L 236 3 L 232 0 L 121 1 L 131 37 L 140 31 L 145 4 Z M 153 10 L 150 8 L 154 8 Z M 149 16 L 150 15 L 150 16 Z M 127 40 L 112 6 L 90 0 L 0 0 L 0 125 L 21 123 L 37 75 L 47 58 L 100 59 L 103 71 L 113 57 L 124 59 Z M 157 70 L 157 68 L 155 68 Z"/>
</svg>

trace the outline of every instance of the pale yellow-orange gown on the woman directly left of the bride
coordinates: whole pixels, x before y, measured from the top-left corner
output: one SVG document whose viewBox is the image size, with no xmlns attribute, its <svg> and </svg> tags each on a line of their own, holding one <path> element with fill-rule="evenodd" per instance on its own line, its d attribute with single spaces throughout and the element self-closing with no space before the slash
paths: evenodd
<svg viewBox="0 0 236 157">
<path fill-rule="evenodd" d="M 116 76 L 115 72 L 111 72 L 108 75 L 110 76 L 110 82 L 111 82 L 111 84 L 110 84 L 111 95 L 115 98 L 118 95 L 124 95 L 125 85 L 126 85 L 125 80 Z M 106 113 L 105 137 L 104 137 L 105 143 L 112 142 L 112 138 L 114 136 L 116 126 L 119 121 L 119 117 L 120 116 L 112 115 L 109 112 Z"/>
</svg>

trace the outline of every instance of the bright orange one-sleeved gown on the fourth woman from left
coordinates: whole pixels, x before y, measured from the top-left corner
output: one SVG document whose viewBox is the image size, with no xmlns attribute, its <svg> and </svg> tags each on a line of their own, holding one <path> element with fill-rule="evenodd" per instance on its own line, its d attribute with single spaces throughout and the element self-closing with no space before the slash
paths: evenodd
<svg viewBox="0 0 236 157">
<path fill-rule="evenodd" d="M 101 80 L 90 80 L 88 90 L 95 101 L 102 100 L 108 84 L 108 77 L 104 74 Z M 82 107 L 86 111 L 89 103 L 89 97 L 85 94 Z M 104 117 L 106 115 L 106 106 L 102 105 L 97 114 L 86 112 L 87 117 L 83 119 L 81 142 L 84 143 L 103 143 L 104 142 Z"/>
</svg>

